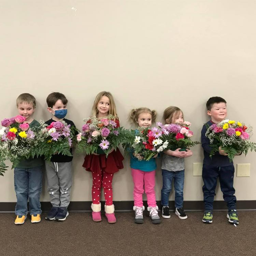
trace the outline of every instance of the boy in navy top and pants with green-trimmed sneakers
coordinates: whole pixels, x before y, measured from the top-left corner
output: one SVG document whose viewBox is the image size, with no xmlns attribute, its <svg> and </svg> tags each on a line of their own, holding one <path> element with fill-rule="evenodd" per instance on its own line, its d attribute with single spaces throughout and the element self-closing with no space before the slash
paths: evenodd
<svg viewBox="0 0 256 256">
<path fill-rule="evenodd" d="M 219 123 L 226 119 L 227 108 L 226 101 L 221 97 L 211 97 L 207 103 L 207 114 L 211 116 L 211 120 L 207 122 L 209 126 L 214 123 Z M 234 165 L 229 162 L 229 158 L 222 147 L 219 147 L 219 152 L 210 157 L 212 147 L 209 139 L 205 136 L 207 127 L 203 125 L 201 131 L 201 142 L 203 147 L 203 201 L 204 201 L 204 215 L 202 221 L 204 223 L 212 223 L 213 217 L 213 200 L 215 188 L 217 185 L 217 177 L 219 177 L 219 184 L 223 193 L 223 199 L 227 203 L 228 214 L 227 218 L 230 223 L 238 224 L 238 215 L 236 210 L 236 196 L 234 196 L 235 189 L 233 187 L 234 179 Z"/>
</svg>

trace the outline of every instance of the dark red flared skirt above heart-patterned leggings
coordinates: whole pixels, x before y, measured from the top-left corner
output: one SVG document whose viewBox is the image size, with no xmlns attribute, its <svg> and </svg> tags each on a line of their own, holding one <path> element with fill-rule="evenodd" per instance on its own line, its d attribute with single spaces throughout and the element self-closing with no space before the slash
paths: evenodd
<svg viewBox="0 0 256 256">
<path fill-rule="evenodd" d="M 86 155 L 84 158 L 83 167 L 86 171 L 96 172 L 101 174 L 101 170 L 108 173 L 118 172 L 119 169 L 123 169 L 124 157 L 117 148 L 116 151 L 113 151 L 106 157 L 105 154 L 102 155 Z"/>
</svg>

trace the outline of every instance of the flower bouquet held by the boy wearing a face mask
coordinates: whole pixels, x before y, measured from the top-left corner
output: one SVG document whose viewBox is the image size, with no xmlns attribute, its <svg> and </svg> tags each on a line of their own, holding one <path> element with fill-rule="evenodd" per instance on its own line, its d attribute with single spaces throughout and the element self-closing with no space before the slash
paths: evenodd
<svg viewBox="0 0 256 256">
<path fill-rule="evenodd" d="M 74 128 L 63 120 L 52 122 L 48 126 L 42 120 L 39 123 L 41 129 L 38 134 L 38 140 L 41 143 L 37 144 L 36 152 L 34 153 L 37 156 L 44 155 L 46 161 L 50 161 L 54 154 L 72 156 L 70 147 L 74 137 Z"/>
</svg>

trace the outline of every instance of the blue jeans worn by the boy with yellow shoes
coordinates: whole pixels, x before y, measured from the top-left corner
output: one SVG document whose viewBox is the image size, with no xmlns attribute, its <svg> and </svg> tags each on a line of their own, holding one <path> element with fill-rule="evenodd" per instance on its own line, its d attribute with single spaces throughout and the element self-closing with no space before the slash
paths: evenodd
<svg viewBox="0 0 256 256">
<path fill-rule="evenodd" d="M 42 190 L 43 166 L 33 168 L 14 168 L 14 188 L 17 197 L 16 215 L 27 215 L 29 212 L 41 214 L 40 195 Z"/>
</svg>

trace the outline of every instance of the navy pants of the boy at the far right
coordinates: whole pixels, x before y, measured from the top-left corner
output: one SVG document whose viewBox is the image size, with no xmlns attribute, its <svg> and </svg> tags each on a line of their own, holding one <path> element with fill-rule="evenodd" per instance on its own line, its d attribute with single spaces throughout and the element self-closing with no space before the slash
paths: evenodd
<svg viewBox="0 0 256 256">
<path fill-rule="evenodd" d="M 203 202 L 206 211 L 213 210 L 213 200 L 217 179 L 219 177 L 219 185 L 223 193 L 223 199 L 227 203 L 228 211 L 236 209 L 236 196 L 234 182 L 234 166 L 213 167 L 203 164 L 202 178 L 203 178 Z"/>
</svg>

